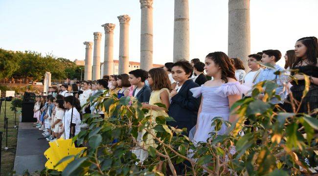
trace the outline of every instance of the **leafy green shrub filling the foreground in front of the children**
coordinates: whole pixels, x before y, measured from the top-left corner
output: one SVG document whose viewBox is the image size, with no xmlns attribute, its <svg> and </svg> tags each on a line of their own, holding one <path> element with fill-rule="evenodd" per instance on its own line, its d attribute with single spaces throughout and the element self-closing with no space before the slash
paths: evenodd
<svg viewBox="0 0 318 176">
<path fill-rule="evenodd" d="M 253 97 L 239 100 L 231 108 L 237 120 L 231 124 L 213 118 L 210 138 L 196 145 L 186 136 L 186 129 L 167 125 L 172 117 L 152 116 L 136 99 L 107 96 L 107 91 L 96 93 L 90 101 L 105 111 L 105 118 L 84 116 L 89 129 L 75 138 L 78 145 L 89 147 L 87 155 L 70 163 L 62 175 L 168 175 L 174 171 L 172 164 L 185 160 L 191 164 L 187 175 L 311 174 L 310 168 L 318 162 L 317 116 L 277 111 L 269 103 L 276 97 L 275 87 L 272 82 L 255 85 Z M 256 98 L 260 92 L 264 92 L 262 100 Z M 222 125 L 228 126 L 224 134 L 218 133 Z M 141 145 L 136 141 L 138 133 L 143 141 L 153 140 L 155 145 Z M 149 153 L 143 162 L 132 152 L 140 148 Z"/>
</svg>

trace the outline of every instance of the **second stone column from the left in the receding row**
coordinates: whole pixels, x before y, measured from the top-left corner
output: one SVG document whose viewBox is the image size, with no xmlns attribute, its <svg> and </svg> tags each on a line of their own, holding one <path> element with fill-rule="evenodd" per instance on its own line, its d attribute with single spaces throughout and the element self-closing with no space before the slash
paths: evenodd
<svg viewBox="0 0 318 176">
<path fill-rule="evenodd" d="M 101 32 L 94 32 L 94 52 L 92 66 L 92 80 L 100 79 L 100 42 L 102 40 Z"/>
</svg>

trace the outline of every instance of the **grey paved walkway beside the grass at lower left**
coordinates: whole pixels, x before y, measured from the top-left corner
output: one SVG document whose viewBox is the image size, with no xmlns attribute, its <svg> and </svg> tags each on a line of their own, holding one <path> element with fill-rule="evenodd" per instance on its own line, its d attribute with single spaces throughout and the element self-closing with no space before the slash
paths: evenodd
<svg viewBox="0 0 318 176">
<path fill-rule="evenodd" d="M 14 161 L 14 171 L 21 175 L 26 169 L 29 173 L 41 171 L 45 167 L 45 150 L 49 147 L 42 132 L 33 127 L 31 122 L 20 122 L 18 131 L 17 152 Z"/>
</svg>

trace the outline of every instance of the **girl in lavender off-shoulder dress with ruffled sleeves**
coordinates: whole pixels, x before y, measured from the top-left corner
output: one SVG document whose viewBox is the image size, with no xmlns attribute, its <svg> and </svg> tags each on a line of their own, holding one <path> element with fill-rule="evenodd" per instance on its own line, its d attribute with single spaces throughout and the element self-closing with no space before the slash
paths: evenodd
<svg viewBox="0 0 318 176">
<path fill-rule="evenodd" d="M 195 144 L 206 142 L 211 136 L 209 133 L 214 131 L 214 127 L 211 126 L 214 117 L 222 117 L 223 120 L 231 123 L 237 119 L 236 115 L 230 115 L 229 109 L 234 102 L 242 98 L 242 93 L 248 90 L 236 81 L 234 66 L 223 52 L 209 53 L 205 58 L 204 69 L 206 75 L 213 76 L 214 80 L 205 82 L 201 87 L 190 89 L 194 97 L 202 94 L 197 125 L 190 132 L 190 136 L 194 133 L 192 141 Z M 223 134 L 226 131 L 227 126 L 223 123 L 217 133 Z"/>
</svg>

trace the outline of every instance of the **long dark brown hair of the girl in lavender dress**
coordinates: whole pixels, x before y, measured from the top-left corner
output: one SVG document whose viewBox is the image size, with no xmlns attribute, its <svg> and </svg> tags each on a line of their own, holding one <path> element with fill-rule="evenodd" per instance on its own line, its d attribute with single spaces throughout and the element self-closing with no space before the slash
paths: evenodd
<svg viewBox="0 0 318 176">
<path fill-rule="evenodd" d="M 221 79 L 225 83 L 228 82 L 227 78 L 233 78 L 236 80 L 234 66 L 231 63 L 231 59 L 227 56 L 226 53 L 221 51 L 212 52 L 206 55 L 206 58 L 211 59 L 216 65 L 221 67 Z"/>
</svg>

